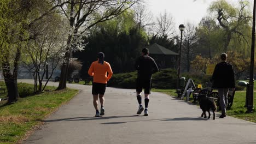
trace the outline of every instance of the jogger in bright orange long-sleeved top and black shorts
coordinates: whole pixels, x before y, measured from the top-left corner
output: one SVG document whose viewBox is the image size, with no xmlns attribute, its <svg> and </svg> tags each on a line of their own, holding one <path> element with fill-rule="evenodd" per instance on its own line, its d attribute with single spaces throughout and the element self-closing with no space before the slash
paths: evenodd
<svg viewBox="0 0 256 144">
<path fill-rule="evenodd" d="M 108 73 L 108 76 L 107 76 Z M 107 82 L 113 75 L 113 71 L 108 62 L 104 61 L 104 53 L 98 53 L 98 60 L 92 62 L 88 70 L 88 74 L 94 77 L 92 83 L 92 95 L 94 95 L 94 107 L 96 110 L 95 117 L 104 115 L 104 93 L 106 91 Z M 101 103 L 101 113 L 98 111 L 98 97 Z"/>
</svg>

